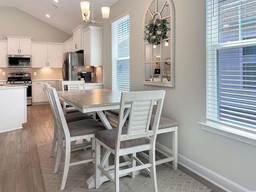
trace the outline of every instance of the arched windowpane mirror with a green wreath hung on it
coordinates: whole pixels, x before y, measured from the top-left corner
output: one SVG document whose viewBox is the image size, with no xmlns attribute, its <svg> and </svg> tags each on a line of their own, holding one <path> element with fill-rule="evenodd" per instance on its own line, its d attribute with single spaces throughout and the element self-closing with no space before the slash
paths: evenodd
<svg viewBox="0 0 256 192">
<path fill-rule="evenodd" d="M 144 84 L 174 87 L 174 6 L 150 0 L 142 21 Z"/>
</svg>

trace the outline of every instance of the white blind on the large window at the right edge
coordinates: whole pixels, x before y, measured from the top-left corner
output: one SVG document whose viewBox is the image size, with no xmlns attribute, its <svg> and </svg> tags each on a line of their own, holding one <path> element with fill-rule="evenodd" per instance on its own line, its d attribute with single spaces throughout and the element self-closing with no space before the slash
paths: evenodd
<svg viewBox="0 0 256 192">
<path fill-rule="evenodd" d="M 207 120 L 256 133 L 256 0 L 206 0 Z"/>
</svg>

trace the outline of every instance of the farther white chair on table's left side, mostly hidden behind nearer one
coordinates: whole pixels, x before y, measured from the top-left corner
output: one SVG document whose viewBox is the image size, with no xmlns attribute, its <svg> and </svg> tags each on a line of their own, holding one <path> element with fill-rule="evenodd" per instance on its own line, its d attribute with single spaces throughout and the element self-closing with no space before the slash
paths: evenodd
<svg viewBox="0 0 256 192">
<path fill-rule="evenodd" d="M 47 86 L 50 86 L 49 84 L 44 84 L 44 90 L 46 90 L 46 94 L 47 94 L 47 97 L 48 97 L 48 100 L 50 101 L 50 97 L 49 97 L 49 93 L 48 93 L 48 90 L 47 90 Z M 52 103 L 50 102 L 50 106 L 51 106 L 51 109 L 52 108 Z M 54 112 L 52 111 L 52 114 L 54 116 Z M 75 122 L 75 121 L 80 121 L 80 120 L 86 120 L 86 119 L 93 119 L 92 116 L 86 114 L 86 113 L 82 113 L 82 112 L 77 112 L 77 113 L 70 113 L 70 114 L 64 114 L 65 116 L 65 119 L 66 119 L 66 122 L 67 123 L 71 123 L 71 122 Z M 53 141 L 52 141 L 52 150 L 51 150 L 51 153 L 50 153 L 50 157 L 53 156 L 54 154 L 54 150 L 55 150 L 55 147 L 56 147 L 56 142 L 58 140 L 58 127 L 57 127 L 57 123 L 55 121 L 55 118 L 54 118 L 54 134 L 53 134 Z M 71 151 L 75 151 L 75 150 L 80 150 L 81 148 L 83 149 L 86 149 L 86 148 L 89 148 L 91 147 L 91 142 L 83 142 L 83 145 L 82 144 L 77 144 L 75 145 L 76 142 L 72 142 L 72 150 Z"/>
</svg>

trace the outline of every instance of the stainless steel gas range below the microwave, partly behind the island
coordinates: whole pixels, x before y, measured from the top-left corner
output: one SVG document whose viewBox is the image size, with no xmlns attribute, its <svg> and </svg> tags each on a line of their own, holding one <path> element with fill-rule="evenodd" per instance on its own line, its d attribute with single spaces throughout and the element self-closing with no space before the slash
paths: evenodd
<svg viewBox="0 0 256 192">
<path fill-rule="evenodd" d="M 30 73 L 8 73 L 7 84 L 25 84 L 27 88 L 27 105 L 32 105 L 32 81 Z"/>
</svg>

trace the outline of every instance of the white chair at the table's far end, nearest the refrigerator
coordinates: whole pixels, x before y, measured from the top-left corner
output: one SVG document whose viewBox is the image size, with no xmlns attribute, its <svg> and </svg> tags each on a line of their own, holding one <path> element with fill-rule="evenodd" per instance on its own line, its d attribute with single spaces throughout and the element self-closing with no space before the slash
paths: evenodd
<svg viewBox="0 0 256 192">
<path fill-rule="evenodd" d="M 67 86 L 68 91 L 72 90 L 85 90 L 84 81 L 62 81 L 62 91 L 64 91 L 65 86 Z M 66 103 L 63 101 L 63 111 L 64 114 L 80 112 L 74 107 L 66 108 Z"/>
</svg>

